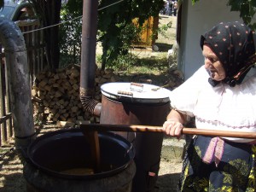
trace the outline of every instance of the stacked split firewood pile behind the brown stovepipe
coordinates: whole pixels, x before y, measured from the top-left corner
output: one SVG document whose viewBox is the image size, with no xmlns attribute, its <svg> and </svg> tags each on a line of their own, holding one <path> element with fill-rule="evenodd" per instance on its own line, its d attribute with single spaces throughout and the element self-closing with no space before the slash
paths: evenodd
<svg viewBox="0 0 256 192">
<path fill-rule="evenodd" d="M 39 73 L 32 87 L 34 119 L 52 122 L 77 122 L 92 117 L 82 107 L 79 97 L 80 67 L 70 66 L 55 73 L 45 70 Z M 118 81 L 113 70 L 96 69 L 95 97 L 101 102 L 101 85 Z"/>
</svg>

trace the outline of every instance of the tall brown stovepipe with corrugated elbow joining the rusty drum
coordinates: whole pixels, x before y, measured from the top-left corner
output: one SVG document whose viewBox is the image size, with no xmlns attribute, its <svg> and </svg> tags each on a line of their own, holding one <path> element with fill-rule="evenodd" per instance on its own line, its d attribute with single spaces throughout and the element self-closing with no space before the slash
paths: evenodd
<svg viewBox="0 0 256 192">
<path fill-rule="evenodd" d="M 84 0 L 80 68 L 80 101 L 85 111 L 100 116 L 102 103 L 95 95 L 96 34 L 98 1 Z"/>
</svg>

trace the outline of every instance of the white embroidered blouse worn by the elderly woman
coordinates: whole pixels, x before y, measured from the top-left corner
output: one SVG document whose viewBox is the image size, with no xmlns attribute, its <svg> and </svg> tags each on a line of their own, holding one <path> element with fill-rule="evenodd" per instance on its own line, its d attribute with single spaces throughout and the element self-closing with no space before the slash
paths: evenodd
<svg viewBox="0 0 256 192">
<path fill-rule="evenodd" d="M 198 129 L 256 132 L 256 70 L 235 87 L 220 83 L 212 87 L 202 66 L 183 84 L 172 90 L 172 108 L 195 116 Z M 236 143 L 253 139 L 225 137 Z"/>
</svg>

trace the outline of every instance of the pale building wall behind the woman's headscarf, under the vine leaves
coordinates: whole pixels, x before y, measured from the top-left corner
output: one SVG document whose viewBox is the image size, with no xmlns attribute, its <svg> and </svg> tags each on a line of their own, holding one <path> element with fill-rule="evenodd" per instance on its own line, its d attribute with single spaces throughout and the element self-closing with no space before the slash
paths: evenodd
<svg viewBox="0 0 256 192">
<path fill-rule="evenodd" d="M 222 21 L 241 21 L 239 12 L 230 12 L 227 3 L 228 0 L 200 0 L 192 5 L 191 0 L 183 0 L 177 63 L 185 80 L 204 64 L 200 47 L 201 34 Z"/>
</svg>

